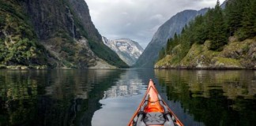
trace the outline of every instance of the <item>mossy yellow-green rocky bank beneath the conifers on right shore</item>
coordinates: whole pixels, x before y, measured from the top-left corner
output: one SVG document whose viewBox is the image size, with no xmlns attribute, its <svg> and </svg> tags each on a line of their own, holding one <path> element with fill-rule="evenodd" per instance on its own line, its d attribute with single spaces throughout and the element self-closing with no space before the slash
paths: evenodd
<svg viewBox="0 0 256 126">
<path fill-rule="evenodd" d="M 175 46 L 179 50 L 180 45 Z M 222 51 L 209 50 L 209 41 L 194 43 L 180 62 L 170 54 L 155 65 L 156 69 L 256 69 L 256 38 L 239 42 L 234 37 Z"/>
</svg>

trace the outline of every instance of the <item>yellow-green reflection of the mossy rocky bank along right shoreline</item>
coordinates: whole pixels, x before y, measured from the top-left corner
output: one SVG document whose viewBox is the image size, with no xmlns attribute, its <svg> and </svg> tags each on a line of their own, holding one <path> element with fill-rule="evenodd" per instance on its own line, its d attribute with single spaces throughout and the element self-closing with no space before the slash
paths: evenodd
<svg viewBox="0 0 256 126">
<path fill-rule="evenodd" d="M 212 89 L 221 89 L 228 98 L 243 96 L 252 98 L 256 94 L 256 79 L 253 71 L 205 71 L 205 70 L 155 70 L 165 82 L 180 80 L 189 87 L 193 96 L 209 97 Z M 172 83 L 177 84 L 177 83 Z M 180 90 L 175 89 L 175 91 Z"/>
</svg>

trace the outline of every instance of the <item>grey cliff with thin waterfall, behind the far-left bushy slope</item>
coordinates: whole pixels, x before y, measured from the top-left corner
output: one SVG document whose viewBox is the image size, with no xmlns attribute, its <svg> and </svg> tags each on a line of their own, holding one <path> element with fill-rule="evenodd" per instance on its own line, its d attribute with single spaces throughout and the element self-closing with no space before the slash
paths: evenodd
<svg viewBox="0 0 256 126">
<path fill-rule="evenodd" d="M 36 33 L 32 38 L 51 56 L 45 57 L 45 65 L 88 68 L 100 61 L 117 67 L 127 66 L 102 42 L 84 0 L 1 1 L 1 4 L 19 7 L 18 13 L 25 15 L 18 18 L 27 20 L 24 24 Z M 15 16 L 11 10 L 8 13 Z"/>
</svg>

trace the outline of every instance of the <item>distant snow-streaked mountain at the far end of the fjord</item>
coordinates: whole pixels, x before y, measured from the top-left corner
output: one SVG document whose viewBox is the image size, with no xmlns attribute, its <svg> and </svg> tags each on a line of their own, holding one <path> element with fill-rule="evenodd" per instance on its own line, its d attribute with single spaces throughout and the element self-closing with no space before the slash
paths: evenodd
<svg viewBox="0 0 256 126">
<path fill-rule="evenodd" d="M 143 52 L 143 48 L 137 42 L 130 39 L 109 40 L 106 37 L 102 37 L 102 40 L 105 45 L 119 55 L 122 61 L 125 61 L 130 66 L 134 65 Z"/>
</svg>

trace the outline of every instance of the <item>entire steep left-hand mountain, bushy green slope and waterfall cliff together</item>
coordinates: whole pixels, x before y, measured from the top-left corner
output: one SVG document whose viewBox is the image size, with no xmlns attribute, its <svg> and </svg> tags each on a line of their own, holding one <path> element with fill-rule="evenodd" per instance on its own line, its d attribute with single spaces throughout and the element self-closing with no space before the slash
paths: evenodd
<svg viewBox="0 0 256 126">
<path fill-rule="evenodd" d="M 104 45 L 84 0 L 0 0 L 0 65 L 127 67 Z"/>
</svg>

